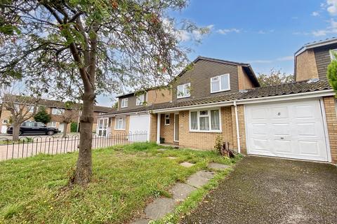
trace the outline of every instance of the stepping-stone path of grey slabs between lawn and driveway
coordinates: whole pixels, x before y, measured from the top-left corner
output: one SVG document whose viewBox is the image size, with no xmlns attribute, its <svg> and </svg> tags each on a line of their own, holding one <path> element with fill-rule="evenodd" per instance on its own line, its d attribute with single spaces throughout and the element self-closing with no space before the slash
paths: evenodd
<svg viewBox="0 0 337 224">
<path fill-rule="evenodd" d="M 170 159 L 170 158 L 169 158 Z M 192 167 L 194 164 L 190 162 L 180 163 L 183 167 Z M 230 166 L 223 166 L 218 163 L 212 163 L 210 167 L 218 167 L 217 169 L 227 169 Z M 212 168 L 213 169 L 213 168 Z M 201 170 L 190 176 L 186 183 L 176 183 L 169 192 L 172 198 L 158 198 L 145 208 L 145 217 L 133 221 L 131 224 L 147 224 L 150 220 L 163 218 L 166 214 L 174 211 L 179 202 L 185 200 L 192 191 L 204 186 L 210 179 L 213 178 L 214 172 Z"/>
</svg>

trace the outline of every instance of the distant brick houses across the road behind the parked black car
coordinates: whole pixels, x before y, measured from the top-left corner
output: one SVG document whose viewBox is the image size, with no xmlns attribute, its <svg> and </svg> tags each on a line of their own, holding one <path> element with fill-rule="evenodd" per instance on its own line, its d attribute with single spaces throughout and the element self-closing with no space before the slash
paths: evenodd
<svg viewBox="0 0 337 224">
<path fill-rule="evenodd" d="M 64 132 L 65 124 L 62 123 L 62 113 L 65 111 L 72 111 L 74 116 L 72 118 L 73 123 L 79 122 L 79 115 L 81 111 L 79 109 L 67 109 L 65 102 L 60 102 L 57 100 L 50 100 L 50 99 L 41 99 L 39 100 L 38 107 L 44 106 L 46 108 L 46 112 L 51 115 L 51 122 L 48 123 L 48 126 L 56 127 L 60 132 Z M 79 106 L 80 108 L 80 106 Z M 34 108 L 31 108 L 34 111 Z M 109 113 L 114 111 L 113 108 L 105 107 L 105 106 L 94 106 L 94 121 L 93 121 L 93 132 L 96 132 L 97 128 L 97 117 L 103 115 L 105 113 Z M 1 106 L 1 113 L 0 113 L 0 122 L 1 122 L 1 133 L 6 133 L 8 125 L 10 125 L 11 120 L 11 112 L 4 109 Z M 29 120 L 34 120 L 34 118 L 30 118 Z M 67 132 L 70 132 L 70 125 L 67 126 Z"/>
</svg>

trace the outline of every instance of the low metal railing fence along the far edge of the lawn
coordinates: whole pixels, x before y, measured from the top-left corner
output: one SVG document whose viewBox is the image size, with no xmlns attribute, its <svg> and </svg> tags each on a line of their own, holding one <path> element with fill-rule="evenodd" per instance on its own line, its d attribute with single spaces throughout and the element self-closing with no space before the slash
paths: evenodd
<svg viewBox="0 0 337 224">
<path fill-rule="evenodd" d="M 93 134 L 92 148 L 105 148 L 145 141 L 148 141 L 147 132 L 110 133 L 107 137 L 99 137 L 96 134 Z M 48 155 L 71 153 L 78 151 L 78 149 L 78 134 L 66 137 L 20 137 L 19 141 L 16 142 L 6 137 L 0 138 L 0 160 L 27 158 L 39 153 Z"/>
</svg>

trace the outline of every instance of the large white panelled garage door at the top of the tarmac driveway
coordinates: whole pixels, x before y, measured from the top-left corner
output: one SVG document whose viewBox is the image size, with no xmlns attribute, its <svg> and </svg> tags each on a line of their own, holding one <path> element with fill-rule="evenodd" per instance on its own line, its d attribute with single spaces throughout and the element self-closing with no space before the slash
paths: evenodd
<svg viewBox="0 0 337 224">
<path fill-rule="evenodd" d="M 246 106 L 249 154 L 327 161 L 319 100 Z"/>
</svg>

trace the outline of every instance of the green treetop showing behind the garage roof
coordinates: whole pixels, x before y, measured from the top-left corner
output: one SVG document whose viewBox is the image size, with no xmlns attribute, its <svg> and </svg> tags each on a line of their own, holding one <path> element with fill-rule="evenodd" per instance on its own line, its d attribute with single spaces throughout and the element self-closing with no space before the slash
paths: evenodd
<svg viewBox="0 0 337 224">
<path fill-rule="evenodd" d="M 292 83 L 293 75 L 282 73 L 281 70 L 271 69 L 269 74 L 258 73 L 258 82 L 261 86 Z"/>
</svg>

